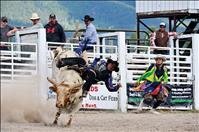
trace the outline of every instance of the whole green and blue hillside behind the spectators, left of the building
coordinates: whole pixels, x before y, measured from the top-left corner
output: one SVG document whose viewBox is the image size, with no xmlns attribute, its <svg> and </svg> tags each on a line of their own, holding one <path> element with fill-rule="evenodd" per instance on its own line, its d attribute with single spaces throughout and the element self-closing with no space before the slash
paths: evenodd
<svg viewBox="0 0 199 132">
<path fill-rule="evenodd" d="M 64 29 L 75 29 L 75 22 L 84 28 L 81 18 L 89 14 L 97 28 L 130 28 L 135 25 L 134 1 L 1 1 L 1 16 L 10 24 L 30 26 L 32 12 L 37 12 L 42 24 L 55 13 Z"/>
</svg>

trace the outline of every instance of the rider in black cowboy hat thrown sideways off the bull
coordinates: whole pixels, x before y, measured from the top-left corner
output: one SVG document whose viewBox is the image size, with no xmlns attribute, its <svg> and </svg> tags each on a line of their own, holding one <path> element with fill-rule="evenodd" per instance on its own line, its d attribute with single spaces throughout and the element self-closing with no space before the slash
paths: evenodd
<svg viewBox="0 0 199 132">
<path fill-rule="evenodd" d="M 95 58 L 93 64 L 90 67 L 84 69 L 84 72 L 82 74 L 82 78 L 86 80 L 86 82 L 83 85 L 82 97 L 86 97 L 91 85 L 96 84 L 99 81 L 105 82 L 108 91 L 116 92 L 121 87 L 121 84 L 118 83 L 115 86 L 113 86 L 112 72 L 118 72 L 118 66 L 119 63 L 112 59 L 107 59 L 107 61 L 100 61 L 99 58 Z"/>
</svg>

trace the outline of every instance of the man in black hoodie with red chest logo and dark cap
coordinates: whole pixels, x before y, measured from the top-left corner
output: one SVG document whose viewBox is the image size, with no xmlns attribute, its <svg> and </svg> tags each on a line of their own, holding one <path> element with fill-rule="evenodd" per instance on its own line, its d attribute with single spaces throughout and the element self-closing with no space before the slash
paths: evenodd
<svg viewBox="0 0 199 132">
<path fill-rule="evenodd" d="M 66 37 L 62 26 L 57 22 L 55 14 L 51 13 L 49 22 L 44 26 L 46 28 L 46 40 L 48 42 L 66 42 Z M 59 46 L 53 45 L 52 46 Z"/>
</svg>

